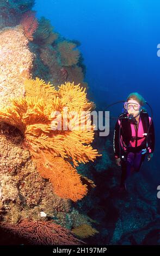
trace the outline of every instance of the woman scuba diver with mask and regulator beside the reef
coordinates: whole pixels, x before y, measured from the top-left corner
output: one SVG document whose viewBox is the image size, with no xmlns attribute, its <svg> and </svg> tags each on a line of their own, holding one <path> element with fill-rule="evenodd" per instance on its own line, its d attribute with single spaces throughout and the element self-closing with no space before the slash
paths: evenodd
<svg viewBox="0 0 160 256">
<path fill-rule="evenodd" d="M 151 117 L 143 108 L 144 98 L 131 93 L 124 103 L 125 112 L 119 115 L 114 129 L 114 157 L 121 166 L 119 192 L 126 191 L 125 181 L 134 172 L 138 172 L 147 154 L 149 161 L 155 148 L 155 130 Z"/>
</svg>

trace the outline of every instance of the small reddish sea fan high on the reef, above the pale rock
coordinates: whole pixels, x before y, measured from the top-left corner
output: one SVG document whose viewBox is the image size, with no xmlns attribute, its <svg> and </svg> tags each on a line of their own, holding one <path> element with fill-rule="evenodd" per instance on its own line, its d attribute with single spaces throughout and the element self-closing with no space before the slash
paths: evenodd
<svg viewBox="0 0 160 256">
<path fill-rule="evenodd" d="M 33 34 L 38 28 L 38 21 L 35 17 L 35 12 L 27 11 L 24 13 L 20 24 L 28 40 L 33 41 Z"/>
</svg>

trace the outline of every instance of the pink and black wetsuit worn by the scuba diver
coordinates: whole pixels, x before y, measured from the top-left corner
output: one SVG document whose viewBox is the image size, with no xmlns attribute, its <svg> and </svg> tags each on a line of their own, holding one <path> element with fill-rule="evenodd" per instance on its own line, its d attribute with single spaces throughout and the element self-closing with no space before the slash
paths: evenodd
<svg viewBox="0 0 160 256">
<path fill-rule="evenodd" d="M 127 117 L 127 115 L 121 114 L 119 117 Z M 132 170 L 139 171 L 141 163 L 145 159 L 145 155 L 141 153 L 142 149 L 146 149 L 146 135 L 150 122 L 147 152 L 153 153 L 155 148 L 155 130 L 153 120 L 151 120 L 146 112 L 140 112 L 138 125 L 131 124 L 128 119 L 118 119 L 115 124 L 113 141 L 114 157 L 118 159 L 123 155 L 125 159 L 125 161 L 121 161 L 121 186 L 124 185 L 125 180 L 131 174 Z"/>
</svg>

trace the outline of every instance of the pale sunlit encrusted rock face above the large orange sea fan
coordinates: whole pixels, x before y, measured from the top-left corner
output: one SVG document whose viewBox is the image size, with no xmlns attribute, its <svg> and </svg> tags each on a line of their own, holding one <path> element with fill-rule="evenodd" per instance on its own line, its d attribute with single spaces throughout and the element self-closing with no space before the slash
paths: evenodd
<svg viewBox="0 0 160 256">
<path fill-rule="evenodd" d="M 30 77 L 33 57 L 19 26 L 0 32 L 0 107 L 8 105 L 10 97 L 24 95 L 24 80 Z"/>
</svg>

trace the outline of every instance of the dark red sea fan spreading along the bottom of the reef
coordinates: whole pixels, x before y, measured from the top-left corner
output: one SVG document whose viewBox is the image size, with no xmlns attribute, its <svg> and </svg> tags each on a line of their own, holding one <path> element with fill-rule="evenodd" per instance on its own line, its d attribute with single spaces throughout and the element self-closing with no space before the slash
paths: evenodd
<svg viewBox="0 0 160 256">
<path fill-rule="evenodd" d="M 81 245 L 70 230 L 52 221 L 23 220 L 17 224 L 2 223 L 1 227 L 32 245 Z"/>
</svg>

